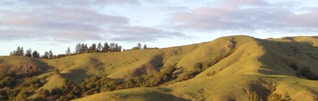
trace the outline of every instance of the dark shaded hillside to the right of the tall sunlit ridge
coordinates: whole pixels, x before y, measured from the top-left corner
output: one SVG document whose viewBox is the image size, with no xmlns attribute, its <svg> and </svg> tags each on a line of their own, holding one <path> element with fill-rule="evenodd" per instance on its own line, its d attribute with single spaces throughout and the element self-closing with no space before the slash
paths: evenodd
<svg viewBox="0 0 318 101">
<path fill-rule="evenodd" d="M 286 39 L 287 40 L 287 39 Z M 310 67 L 308 61 L 318 62 L 318 47 L 313 44 L 297 41 L 272 41 L 259 39 L 260 45 L 264 46 L 266 53 L 259 57 L 259 61 L 265 64 L 266 69 L 258 70 L 265 75 L 288 75 L 306 77 L 317 80 L 316 67 Z M 308 58 L 304 58 L 308 57 Z M 308 63 L 307 63 L 308 62 Z"/>
</svg>

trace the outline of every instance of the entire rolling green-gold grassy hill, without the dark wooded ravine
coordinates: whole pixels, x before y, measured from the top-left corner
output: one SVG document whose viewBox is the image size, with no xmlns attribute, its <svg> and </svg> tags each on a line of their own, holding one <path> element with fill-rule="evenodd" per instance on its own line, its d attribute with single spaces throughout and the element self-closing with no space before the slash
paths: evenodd
<svg viewBox="0 0 318 101">
<path fill-rule="evenodd" d="M 178 47 L 59 59 L 0 57 L 1 72 L 46 77 L 40 89 L 47 90 L 61 88 L 65 80 L 80 86 L 94 76 L 119 81 L 149 76 L 152 81 L 174 67 L 168 73 L 173 77 L 155 87 L 93 93 L 74 101 L 248 101 L 252 92 L 265 100 L 271 93 L 287 93 L 297 101 L 316 101 L 317 66 L 316 36 L 229 36 Z"/>
</svg>

